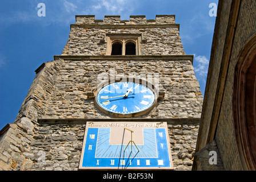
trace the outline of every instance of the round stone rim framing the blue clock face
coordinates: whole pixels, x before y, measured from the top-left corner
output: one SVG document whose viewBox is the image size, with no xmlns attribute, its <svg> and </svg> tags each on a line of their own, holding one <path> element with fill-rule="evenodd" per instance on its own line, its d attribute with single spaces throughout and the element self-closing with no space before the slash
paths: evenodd
<svg viewBox="0 0 256 182">
<path fill-rule="evenodd" d="M 138 111 L 137 113 L 128 113 L 128 114 L 123 114 L 123 113 L 113 113 L 109 110 L 105 110 L 103 107 L 101 107 L 101 105 L 98 104 L 97 102 L 97 95 L 98 92 L 105 86 L 109 85 L 109 84 L 113 84 L 115 82 L 134 82 L 136 84 L 141 84 L 143 86 L 146 86 L 146 88 L 150 89 L 155 96 L 154 102 L 153 104 L 148 107 L 145 110 L 142 111 Z M 117 117 L 117 118 L 132 118 L 132 117 L 138 117 L 141 115 L 146 115 L 148 114 L 152 109 L 154 109 L 154 107 L 157 105 L 157 94 L 155 93 L 155 86 L 153 84 L 151 84 L 150 82 L 146 81 L 146 80 L 142 80 L 141 78 L 133 78 L 133 77 L 125 77 L 125 78 L 119 78 L 119 79 L 109 79 L 108 81 L 103 82 L 102 86 L 100 86 L 100 88 L 97 88 L 94 92 L 94 104 L 95 106 L 97 106 L 97 108 L 99 110 L 101 110 L 103 113 Z"/>
</svg>

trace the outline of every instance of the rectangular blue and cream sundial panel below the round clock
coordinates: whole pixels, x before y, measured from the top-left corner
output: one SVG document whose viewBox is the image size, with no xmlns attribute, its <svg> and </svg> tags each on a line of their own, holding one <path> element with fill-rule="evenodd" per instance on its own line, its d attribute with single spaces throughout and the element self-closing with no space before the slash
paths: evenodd
<svg viewBox="0 0 256 182">
<path fill-rule="evenodd" d="M 79 169 L 173 169 L 166 122 L 87 122 Z"/>
</svg>

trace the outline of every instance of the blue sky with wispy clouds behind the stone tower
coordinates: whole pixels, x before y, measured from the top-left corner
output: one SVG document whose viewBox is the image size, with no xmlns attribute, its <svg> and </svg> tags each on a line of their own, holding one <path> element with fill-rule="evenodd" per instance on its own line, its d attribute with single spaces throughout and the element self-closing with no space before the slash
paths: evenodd
<svg viewBox="0 0 256 182">
<path fill-rule="evenodd" d="M 46 16 L 39 17 L 38 3 Z M 217 0 L 9 0 L 0 2 L 0 129 L 13 123 L 42 63 L 61 55 L 75 15 L 175 14 L 187 55 L 194 55 L 195 76 L 205 93 L 215 16 L 210 3 Z"/>
</svg>

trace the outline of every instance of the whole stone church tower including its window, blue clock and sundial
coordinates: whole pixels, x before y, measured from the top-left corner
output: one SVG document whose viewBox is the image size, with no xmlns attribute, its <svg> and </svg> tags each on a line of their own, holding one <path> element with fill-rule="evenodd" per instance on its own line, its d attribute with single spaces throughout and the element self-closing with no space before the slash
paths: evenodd
<svg viewBox="0 0 256 182">
<path fill-rule="evenodd" d="M 175 15 L 77 15 L 35 73 L 0 169 L 191 170 L 203 98 Z"/>
</svg>

